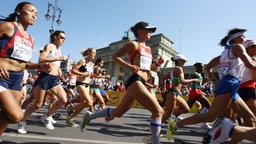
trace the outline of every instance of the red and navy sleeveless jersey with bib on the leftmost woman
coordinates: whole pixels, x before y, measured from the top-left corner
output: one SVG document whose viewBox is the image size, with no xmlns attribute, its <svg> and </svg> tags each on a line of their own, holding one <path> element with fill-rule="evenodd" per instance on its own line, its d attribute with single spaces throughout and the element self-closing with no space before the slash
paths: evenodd
<svg viewBox="0 0 256 144">
<path fill-rule="evenodd" d="M 14 25 L 14 33 L 10 38 L 0 38 L 0 57 L 28 62 L 32 58 L 32 37 L 25 38 Z"/>
</svg>

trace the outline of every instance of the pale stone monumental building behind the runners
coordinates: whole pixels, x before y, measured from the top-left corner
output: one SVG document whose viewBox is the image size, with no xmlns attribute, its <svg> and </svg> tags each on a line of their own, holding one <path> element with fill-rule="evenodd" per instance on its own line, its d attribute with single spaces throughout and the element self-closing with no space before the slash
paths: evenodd
<svg viewBox="0 0 256 144">
<path fill-rule="evenodd" d="M 130 41 L 129 38 L 123 38 L 120 41 L 110 43 L 107 47 L 104 48 L 96 48 L 96 58 L 101 58 L 104 60 L 104 69 L 107 74 L 111 76 L 111 81 L 113 85 L 116 82 L 126 82 L 126 80 L 130 76 L 130 72 L 123 68 L 122 66 L 115 64 L 112 61 L 112 55 L 116 53 L 124 44 Z M 170 69 L 175 66 L 175 63 L 171 60 L 171 57 L 177 54 L 178 52 L 173 49 L 173 41 L 166 37 L 164 34 L 156 34 L 152 35 L 150 40 L 147 41 L 146 45 L 151 48 L 153 58 L 158 58 L 159 56 L 163 56 L 165 62 L 162 64 L 158 70 L 158 76 L 160 79 L 160 85 L 162 83 L 163 76 L 169 73 Z M 129 61 L 127 56 L 123 57 L 127 62 Z M 74 59 L 67 59 L 61 62 L 61 70 L 62 73 L 72 69 L 78 61 Z M 193 66 L 184 66 L 184 74 L 189 75 L 195 71 Z M 216 71 L 216 70 L 215 70 Z"/>
</svg>

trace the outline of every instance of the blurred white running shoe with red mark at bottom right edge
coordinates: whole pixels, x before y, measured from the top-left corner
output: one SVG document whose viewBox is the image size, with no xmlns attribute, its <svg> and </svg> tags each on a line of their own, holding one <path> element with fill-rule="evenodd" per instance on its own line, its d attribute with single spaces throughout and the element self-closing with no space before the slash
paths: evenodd
<svg viewBox="0 0 256 144">
<path fill-rule="evenodd" d="M 212 129 L 204 136 L 203 144 L 216 144 L 228 140 L 233 126 L 233 122 L 230 119 L 225 117 L 218 118 L 214 122 Z"/>
</svg>

